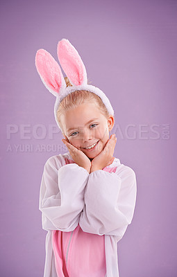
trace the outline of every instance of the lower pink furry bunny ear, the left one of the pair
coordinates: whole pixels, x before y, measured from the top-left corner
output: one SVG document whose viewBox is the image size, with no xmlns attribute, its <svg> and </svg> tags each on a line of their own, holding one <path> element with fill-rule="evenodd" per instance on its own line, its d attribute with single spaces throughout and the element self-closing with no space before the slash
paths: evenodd
<svg viewBox="0 0 177 277">
<path fill-rule="evenodd" d="M 58 96 L 61 89 L 65 89 L 66 83 L 58 62 L 44 49 L 39 49 L 35 55 L 35 66 L 44 86 Z"/>
</svg>

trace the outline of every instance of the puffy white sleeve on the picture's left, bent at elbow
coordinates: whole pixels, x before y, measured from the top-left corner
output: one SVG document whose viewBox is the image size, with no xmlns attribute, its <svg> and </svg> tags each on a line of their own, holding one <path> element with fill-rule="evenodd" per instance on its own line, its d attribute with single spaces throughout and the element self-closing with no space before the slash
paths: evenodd
<svg viewBox="0 0 177 277">
<path fill-rule="evenodd" d="M 62 166 L 55 157 L 44 165 L 40 187 L 42 228 L 44 230 L 73 231 L 84 207 L 84 191 L 89 173 L 76 163 Z M 59 169 L 58 169 L 59 167 Z"/>
</svg>

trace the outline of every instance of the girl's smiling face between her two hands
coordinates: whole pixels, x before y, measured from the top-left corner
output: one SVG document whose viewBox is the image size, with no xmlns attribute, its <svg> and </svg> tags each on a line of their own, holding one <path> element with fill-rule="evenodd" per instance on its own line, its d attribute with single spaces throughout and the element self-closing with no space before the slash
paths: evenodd
<svg viewBox="0 0 177 277">
<path fill-rule="evenodd" d="M 90 159 L 94 159 L 103 150 L 114 125 L 114 116 L 107 119 L 93 102 L 66 111 L 60 120 L 63 136 L 67 136 L 69 142 Z M 95 143 L 93 148 L 85 149 Z"/>
</svg>

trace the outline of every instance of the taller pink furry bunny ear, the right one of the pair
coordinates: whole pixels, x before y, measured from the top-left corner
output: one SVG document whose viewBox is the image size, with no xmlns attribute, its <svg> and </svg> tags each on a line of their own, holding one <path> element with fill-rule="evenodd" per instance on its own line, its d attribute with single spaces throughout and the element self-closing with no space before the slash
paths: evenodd
<svg viewBox="0 0 177 277">
<path fill-rule="evenodd" d="M 87 73 L 78 51 L 71 45 L 68 39 L 58 42 L 58 59 L 72 85 L 87 84 Z"/>
</svg>

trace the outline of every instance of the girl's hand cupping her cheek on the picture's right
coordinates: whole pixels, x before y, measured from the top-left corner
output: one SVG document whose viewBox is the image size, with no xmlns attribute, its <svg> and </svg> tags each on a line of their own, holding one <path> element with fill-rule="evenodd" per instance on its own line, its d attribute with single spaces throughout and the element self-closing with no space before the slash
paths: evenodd
<svg viewBox="0 0 177 277">
<path fill-rule="evenodd" d="M 101 151 L 101 153 L 98 156 L 92 159 L 90 173 L 95 170 L 101 170 L 108 166 L 114 154 L 116 142 L 117 138 L 115 137 L 115 134 L 112 134 L 110 136 L 110 139 L 108 139 L 105 148 Z"/>
</svg>

